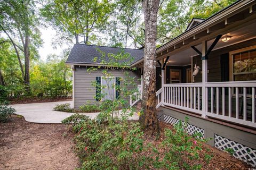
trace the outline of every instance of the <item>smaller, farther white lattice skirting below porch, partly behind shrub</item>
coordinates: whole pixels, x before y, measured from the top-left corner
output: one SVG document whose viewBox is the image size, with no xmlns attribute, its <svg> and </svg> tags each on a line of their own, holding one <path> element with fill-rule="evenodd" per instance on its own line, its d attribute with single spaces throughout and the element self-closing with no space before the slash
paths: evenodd
<svg viewBox="0 0 256 170">
<path fill-rule="evenodd" d="M 168 116 L 165 114 L 163 116 L 164 116 L 165 123 L 169 123 L 171 125 L 175 125 L 175 124 L 179 123 L 179 120 L 177 118 L 174 118 L 174 117 L 171 117 L 171 116 Z M 185 122 L 182 121 L 182 124 L 184 125 Z M 197 126 L 194 126 L 194 125 L 191 125 L 188 123 L 186 130 L 187 130 L 188 134 L 190 134 L 190 135 L 193 135 L 194 133 L 199 132 L 204 137 L 204 129 L 198 128 Z"/>
</svg>

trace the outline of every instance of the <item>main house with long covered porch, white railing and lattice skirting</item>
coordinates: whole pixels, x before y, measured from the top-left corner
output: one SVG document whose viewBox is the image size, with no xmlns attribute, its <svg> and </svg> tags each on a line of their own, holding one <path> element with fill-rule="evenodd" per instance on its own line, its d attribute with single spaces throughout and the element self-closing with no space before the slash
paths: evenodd
<svg viewBox="0 0 256 170">
<path fill-rule="evenodd" d="M 221 150 L 234 149 L 235 157 L 253 166 L 255 28 L 256 2 L 236 1 L 210 18 L 193 19 L 185 32 L 156 50 L 159 120 L 175 124 L 189 117 L 188 133 L 199 132 L 204 138 L 212 138 L 209 144 Z M 86 64 L 72 65 L 79 75 Z M 143 73 L 143 57 L 137 57 L 131 67 Z M 140 78 L 139 73 L 134 76 Z M 139 84 L 139 92 L 142 87 Z M 74 91 L 76 98 L 79 92 Z M 138 102 L 136 98 L 130 104 Z"/>
</svg>

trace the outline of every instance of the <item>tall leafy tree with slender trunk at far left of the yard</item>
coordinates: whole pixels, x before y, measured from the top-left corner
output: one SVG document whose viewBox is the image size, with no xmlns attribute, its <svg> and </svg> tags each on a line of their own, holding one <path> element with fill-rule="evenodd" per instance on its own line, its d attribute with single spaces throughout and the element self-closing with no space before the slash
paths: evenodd
<svg viewBox="0 0 256 170">
<path fill-rule="evenodd" d="M 30 59 L 37 55 L 37 48 L 42 44 L 38 29 L 39 19 L 36 14 L 34 1 L 0 1 L 0 31 L 11 41 L 18 57 L 23 81 L 29 92 L 29 66 Z M 21 44 L 21 45 L 20 45 Z M 25 58 L 23 69 L 22 56 Z"/>
</svg>

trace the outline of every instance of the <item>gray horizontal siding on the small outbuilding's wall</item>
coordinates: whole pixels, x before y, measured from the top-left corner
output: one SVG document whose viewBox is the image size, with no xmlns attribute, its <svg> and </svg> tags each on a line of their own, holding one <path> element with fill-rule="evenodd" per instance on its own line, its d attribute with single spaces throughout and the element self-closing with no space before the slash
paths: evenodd
<svg viewBox="0 0 256 170">
<path fill-rule="evenodd" d="M 130 72 L 131 77 L 137 78 L 137 83 L 140 84 L 140 73 L 139 72 Z M 111 74 L 114 77 L 125 77 L 124 71 L 115 70 L 111 71 Z M 94 96 L 96 95 L 96 89 L 91 85 L 92 81 L 96 80 L 96 77 L 102 76 L 102 69 L 98 69 L 97 71 L 87 71 L 85 66 L 76 66 L 75 67 L 75 108 L 79 108 L 79 106 L 86 104 L 89 102 L 93 104 L 96 102 Z M 121 86 L 122 86 L 121 81 Z M 133 86 L 127 87 L 128 89 L 134 88 Z M 128 99 L 127 99 L 128 100 Z"/>
</svg>

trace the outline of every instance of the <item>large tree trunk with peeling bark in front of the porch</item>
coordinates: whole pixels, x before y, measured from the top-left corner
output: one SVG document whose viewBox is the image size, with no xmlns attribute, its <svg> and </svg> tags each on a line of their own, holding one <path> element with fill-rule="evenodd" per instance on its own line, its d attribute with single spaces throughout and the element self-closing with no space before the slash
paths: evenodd
<svg viewBox="0 0 256 170">
<path fill-rule="evenodd" d="M 156 112 L 156 21 L 159 0 L 143 0 L 142 7 L 145 18 L 145 49 L 143 69 L 143 94 L 140 116 L 142 128 L 151 135 L 158 132 Z"/>
</svg>

